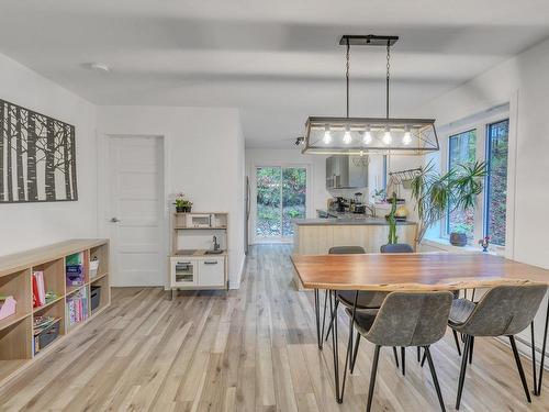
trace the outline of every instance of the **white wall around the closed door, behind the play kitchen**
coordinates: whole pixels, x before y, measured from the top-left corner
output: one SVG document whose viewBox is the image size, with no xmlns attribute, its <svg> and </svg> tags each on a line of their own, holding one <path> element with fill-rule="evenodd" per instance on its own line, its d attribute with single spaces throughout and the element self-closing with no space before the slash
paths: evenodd
<svg viewBox="0 0 549 412">
<path fill-rule="evenodd" d="M 229 285 L 237 288 L 244 261 L 244 137 L 238 110 L 99 107 L 98 133 L 164 136 L 168 196 L 184 192 L 197 212 L 229 213 Z M 170 203 L 166 201 L 166 215 L 172 211 Z"/>
</svg>

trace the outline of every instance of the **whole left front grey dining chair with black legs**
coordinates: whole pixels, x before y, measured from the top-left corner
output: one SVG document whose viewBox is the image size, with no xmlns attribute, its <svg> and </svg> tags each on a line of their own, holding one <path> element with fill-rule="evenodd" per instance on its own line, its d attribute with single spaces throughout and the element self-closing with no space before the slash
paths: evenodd
<svg viewBox="0 0 549 412">
<path fill-rule="evenodd" d="M 355 318 L 355 326 L 359 336 L 363 336 L 376 345 L 367 412 L 370 411 L 372 404 L 379 355 L 382 346 L 418 346 L 425 349 L 438 401 L 440 408 L 445 411 L 429 346 L 445 335 L 452 297 L 450 292 L 391 292 L 379 311 L 357 311 L 351 313 L 347 309 L 348 314 Z M 355 345 L 354 359 L 356 359 L 357 353 L 358 344 Z M 347 358 L 349 357 L 350 354 L 348 354 Z"/>
</svg>

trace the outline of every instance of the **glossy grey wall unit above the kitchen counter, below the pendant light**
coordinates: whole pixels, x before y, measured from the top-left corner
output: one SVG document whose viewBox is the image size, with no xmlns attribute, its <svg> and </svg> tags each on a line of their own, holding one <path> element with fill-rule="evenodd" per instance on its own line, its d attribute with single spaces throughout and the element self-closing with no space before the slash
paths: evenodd
<svg viewBox="0 0 549 412">
<path fill-rule="evenodd" d="M 368 156 L 329 156 L 326 158 L 326 189 L 368 187 Z"/>
</svg>

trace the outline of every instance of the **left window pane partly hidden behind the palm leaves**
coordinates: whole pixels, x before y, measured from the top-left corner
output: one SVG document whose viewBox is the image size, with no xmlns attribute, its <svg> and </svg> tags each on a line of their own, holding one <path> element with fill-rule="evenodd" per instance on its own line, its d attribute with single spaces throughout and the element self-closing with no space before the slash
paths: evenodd
<svg viewBox="0 0 549 412">
<path fill-rule="evenodd" d="M 474 163 L 477 158 L 477 130 L 470 130 L 459 134 L 451 135 L 448 138 L 448 170 Z M 453 209 L 449 204 L 448 211 Z M 468 238 L 474 236 L 474 211 L 455 210 L 448 213 L 446 221 L 446 232 L 462 232 Z"/>
</svg>

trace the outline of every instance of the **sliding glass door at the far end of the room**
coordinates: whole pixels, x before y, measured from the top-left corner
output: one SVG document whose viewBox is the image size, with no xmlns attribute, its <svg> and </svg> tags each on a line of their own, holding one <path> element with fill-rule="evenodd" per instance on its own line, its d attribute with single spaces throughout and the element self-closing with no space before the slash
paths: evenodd
<svg viewBox="0 0 549 412">
<path fill-rule="evenodd" d="M 256 240 L 293 236 L 292 219 L 306 215 L 306 175 L 305 167 L 256 168 Z"/>
</svg>

